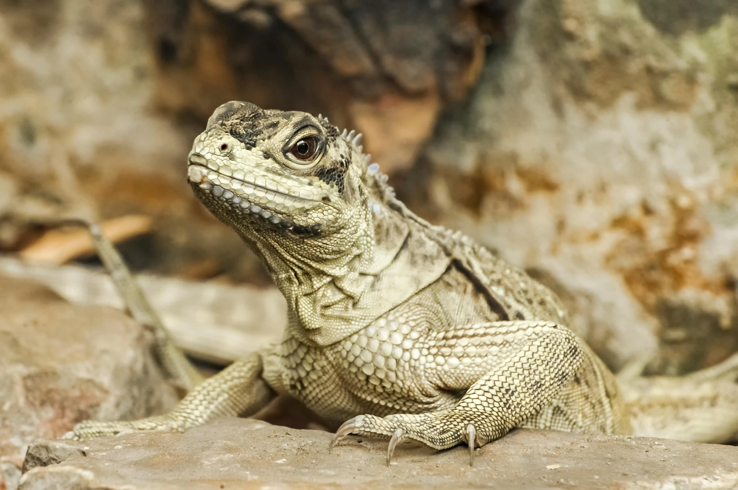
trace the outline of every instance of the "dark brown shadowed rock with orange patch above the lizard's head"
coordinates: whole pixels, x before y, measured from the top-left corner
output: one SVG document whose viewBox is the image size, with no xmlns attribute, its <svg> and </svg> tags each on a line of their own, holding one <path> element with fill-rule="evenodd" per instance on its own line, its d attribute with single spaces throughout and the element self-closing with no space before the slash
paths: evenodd
<svg viewBox="0 0 738 490">
<path fill-rule="evenodd" d="M 224 97 L 321 112 L 364 134 L 384 170 L 407 169 L 518 3 L 157 1 L 158 102 L 205 118 Z"/>
</svg>

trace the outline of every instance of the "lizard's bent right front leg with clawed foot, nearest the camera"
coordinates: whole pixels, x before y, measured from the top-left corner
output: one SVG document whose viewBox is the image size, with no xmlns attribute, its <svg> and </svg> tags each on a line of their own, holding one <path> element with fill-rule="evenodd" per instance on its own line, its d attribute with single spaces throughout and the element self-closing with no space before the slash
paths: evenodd
<svg viewBox="0 0 738 490">
<path fill-rule="evenodd" d="M 541 410 L 582 365 L 579 340 L 554 322 L 492 322 L 430 332 L 412 346 L 418 348 L 446 353 L 437 361 L 429 356 L 421 370 L 437 390 L 468 388 L 458 404 L 429 413 L 359 415 L 338 429 L 332 444 L 348 434 L 389 437 L 389 464 L 404 439 L 436 449 L 466 442 L 471 458 L 475 446 L 500 438 Z"/>
</svg>

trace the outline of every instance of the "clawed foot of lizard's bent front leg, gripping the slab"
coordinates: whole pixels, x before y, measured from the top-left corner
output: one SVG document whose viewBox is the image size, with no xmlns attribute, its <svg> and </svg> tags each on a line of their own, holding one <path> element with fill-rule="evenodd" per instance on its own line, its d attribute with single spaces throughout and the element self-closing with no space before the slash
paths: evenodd
<svg viewBox="0 0 738 490">
<path fill-rule="evenodd" d="M 447 449 L 461 443 L 469 444 L 469 464 L 474 461 L 474 446 L 481 446 L 474 424 L 458 417 L 458 413 L 441 410 L 434 413 L 418 415 L 398 414 L 377 417 L 376 415 L 358 415 L 342 424 L 331 441 L 335 446 L 349 434 L 379 436 L 390 438 L 387 448 L 387 466 L 397 444 L 407 439 L 420 441 L 435 449 Z"/>
</svg>

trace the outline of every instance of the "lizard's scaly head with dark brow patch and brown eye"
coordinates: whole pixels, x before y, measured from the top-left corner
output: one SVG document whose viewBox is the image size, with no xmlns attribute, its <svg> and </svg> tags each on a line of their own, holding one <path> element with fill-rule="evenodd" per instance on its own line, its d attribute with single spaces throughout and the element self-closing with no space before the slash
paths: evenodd
<svg viewBox="0 0 738 490">
<path fill-rule="evenodd" d="M 280 249 L 311 241 L 337 253 L 371 227 L 378 194 L 368 182 L 382 184 L 359 142 L 322 117 L 229 102 L 195 139 L 188 176 L 198 198 L 247 241 Z"/>
</svg>

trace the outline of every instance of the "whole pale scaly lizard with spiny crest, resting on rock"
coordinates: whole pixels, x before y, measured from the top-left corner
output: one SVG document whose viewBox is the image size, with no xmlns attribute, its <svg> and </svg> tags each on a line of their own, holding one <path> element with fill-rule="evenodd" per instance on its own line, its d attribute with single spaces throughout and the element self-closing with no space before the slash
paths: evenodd
<svg viewBox="0 0 738 490">
<path fill-rule="evenodd" d="M 472 464 L 475 448 L 515 427 L 649 432 L 644 416 L 658 419 L 661 405 L 624 402 L 613 373 L 568 328 L 559 298 L 410 211 L 361 139 L 300 111 L 238 101 L 215 110 L 188 156 L 188 181 L 286 298 L 283 341 L 201 382 L 170 413 L 83 421 L 65 437 L 183 431 L 252 415 L 277 394 L 341 424 L 331 446 L 349 434 L 388 438 L 387 464 L 407 440 L 466 444 Z M 736 386 L 730 362 L 709 396 Z M 723 438 L 738 429 L 731 396 L 714 421 Z"/>
</svg>

